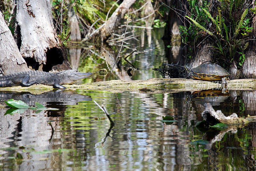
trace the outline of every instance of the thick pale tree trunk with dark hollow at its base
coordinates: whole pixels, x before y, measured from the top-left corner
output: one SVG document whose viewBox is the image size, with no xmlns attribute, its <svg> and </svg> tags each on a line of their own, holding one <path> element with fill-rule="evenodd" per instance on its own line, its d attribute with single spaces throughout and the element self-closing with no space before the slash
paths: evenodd
<svg viewBox="0 0 256 171">
<path fill-rule="evenodd" d="M 16 43 L 35 70 L 71 68 L 53 28 L 50 0 L 17 0 Z"/>
</svg>

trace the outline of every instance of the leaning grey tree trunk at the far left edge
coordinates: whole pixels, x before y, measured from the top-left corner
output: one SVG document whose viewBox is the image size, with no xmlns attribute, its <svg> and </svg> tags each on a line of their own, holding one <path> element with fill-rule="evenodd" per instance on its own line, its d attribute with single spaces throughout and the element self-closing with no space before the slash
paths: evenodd
<svg viewBox="0 0 256 171">
<path fill-rule="evenodd" d="M 25 60 L 0 12 L 0 68 L 4 75 L 28 71 Z"/>
</svg>

